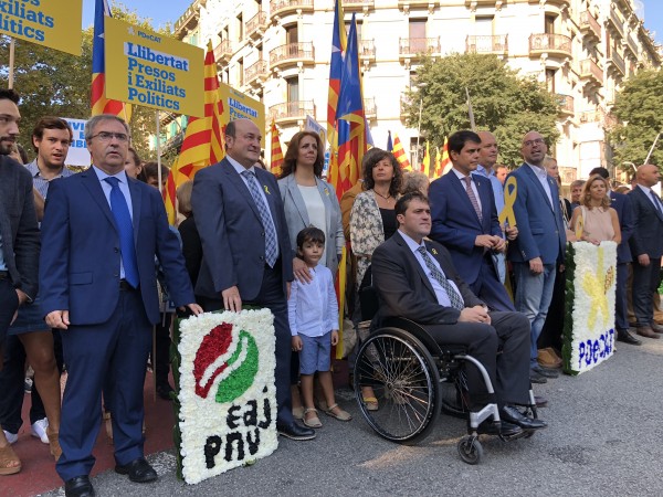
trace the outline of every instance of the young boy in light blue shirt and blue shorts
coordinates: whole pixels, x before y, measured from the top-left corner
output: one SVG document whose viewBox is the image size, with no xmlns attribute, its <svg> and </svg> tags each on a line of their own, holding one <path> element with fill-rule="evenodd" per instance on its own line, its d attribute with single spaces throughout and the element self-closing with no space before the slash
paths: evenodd
<svg viewBox="0 0 663 497">
<path fill-rule="evenodd" d="M 339 421 L 352 419 L 334 399 L 329 369 L 332 346 L 338 343 L 338 304 L 332 271 L 318 265 L 324 250 L 325 233 L 322 230 L 311 226 L 297 234 L 297 256 L 308 266 L 313 281 L 303 284 L 295 279 L 287 302 L 293 351 L 299 352 L 304 424 L 314 429 L 323 426 L 313 406 L 313 376 L 316 371 L 329 406 L 325 414 Z"/>
</svg>

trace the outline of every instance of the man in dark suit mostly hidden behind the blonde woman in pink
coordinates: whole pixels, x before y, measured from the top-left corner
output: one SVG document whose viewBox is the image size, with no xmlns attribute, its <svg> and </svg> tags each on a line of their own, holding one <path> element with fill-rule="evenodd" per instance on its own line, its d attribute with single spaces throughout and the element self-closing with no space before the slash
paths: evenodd
<svg viewBox="0 0 663 497">
<path fill-rule="evenodd" d="M 589 176 L 592 177 L 594 175 L 599 175 L 607 180 L 610 179 L 610 173 L 606 168 L 593 168 Z M 629 244 L 635 224 L 635 220 L 633 219 L 633 207 L 631 205 L 631 199 L 628 195 L 614 191 L 610 191 L 610 207 L 617 211 L 619 228 L 622 235 L 622 240 L 617 246 L 617 282 L 614 290 L 614 324 L 617 328 L 617 339 L 624 343 L 638 346 L 642 342 L 629 331 L 629 313 L 627 305 L 629 264 L 633 261 Z"/>
</svg>

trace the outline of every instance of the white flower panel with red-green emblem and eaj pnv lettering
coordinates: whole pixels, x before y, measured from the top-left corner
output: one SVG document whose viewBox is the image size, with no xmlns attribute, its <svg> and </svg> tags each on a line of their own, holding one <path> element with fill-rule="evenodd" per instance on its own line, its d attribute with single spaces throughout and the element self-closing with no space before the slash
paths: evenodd
<svg viewBox="0 0 663 497">
<path fill-rule="evenodd" d="M 185 482 L 272 454 L 278 446 L 272 313 L 206 313 L 182 320 L 179 335 Z"/>
</svg>

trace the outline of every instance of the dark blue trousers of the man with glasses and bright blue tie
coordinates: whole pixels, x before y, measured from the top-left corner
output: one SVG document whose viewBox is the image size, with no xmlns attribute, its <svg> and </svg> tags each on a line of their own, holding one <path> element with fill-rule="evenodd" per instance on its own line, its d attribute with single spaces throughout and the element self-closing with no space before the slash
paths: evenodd
<svg viewBox="0 0 663 497">
<path fill-rule="evenodd" d="M 122 290 L 106 322 L 70 326 L 62 332 L 62 345 L 69 377 L 60 425 L 62 456 L 55 466 L 60 477 L 66 482 L 90 475 L 94 466 L 92 450 L 102 421 L 102 388 L 113 413 L 116 463 L 125 465 L 143 457 L 143 385 L 151 324 L 140 293 Z"/>
</svg>

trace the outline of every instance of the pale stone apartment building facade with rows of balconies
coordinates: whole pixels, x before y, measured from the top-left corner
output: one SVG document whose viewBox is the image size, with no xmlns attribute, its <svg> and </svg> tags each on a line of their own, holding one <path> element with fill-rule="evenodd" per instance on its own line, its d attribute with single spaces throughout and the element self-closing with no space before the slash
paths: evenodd
<svg viewBox="0 0 663 497">
<path fill-rule="evenodd" d="M 418 130 L 406 126 L 401 97 L 422 53 L 494 54 L 544 83 L 559 102 L 560 138 L 551 151 L 565 183 L 612 166 L 604 130 L 613 124 L 615 93 L 632 74 L 661 64 L 633 0 L 345 0 L 343 7 L 346 24 L 357 15 L 375 144 L 385 147 L 391 131 L 413 161 Z M 334 0 L 196 0 L 175 31 L 199 46 L 212 41 L 221 80 L 265 105 L 285 146 L 306 115 L 326 120 L 333 21 Z M 177 146 L 181 128 L 173 119 L 162 123 L 167 142 Z"/>
</svg>

